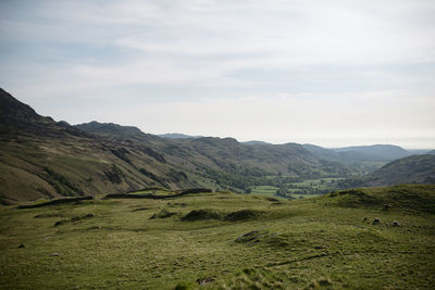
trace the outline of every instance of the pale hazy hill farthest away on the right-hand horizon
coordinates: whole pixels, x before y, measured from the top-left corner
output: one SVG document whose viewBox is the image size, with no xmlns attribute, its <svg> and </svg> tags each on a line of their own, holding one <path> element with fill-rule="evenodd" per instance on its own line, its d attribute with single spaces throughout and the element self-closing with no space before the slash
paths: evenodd
<svg viewBox="0 0 435 290">
<path fill-rule="evenodd" d="M 374 146 L 353 146 L 333 149 L 336 152 L 358 152 L 372 156 L 377 160 L 396 160 L 411 155 L 410 152 L 398 146 L 374 144 Z"/>
</svg>

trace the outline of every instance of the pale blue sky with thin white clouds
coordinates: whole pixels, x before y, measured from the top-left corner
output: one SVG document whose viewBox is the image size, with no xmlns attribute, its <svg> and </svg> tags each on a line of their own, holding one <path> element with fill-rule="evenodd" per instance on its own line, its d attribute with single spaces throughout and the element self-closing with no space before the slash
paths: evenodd
<svg viewBox="0 0 435 290">
<path fill-rule="evenodd" d="M 71 124 L 435 148 L 433 0 L 1 0 L 0 87 Z"/>
</svg>

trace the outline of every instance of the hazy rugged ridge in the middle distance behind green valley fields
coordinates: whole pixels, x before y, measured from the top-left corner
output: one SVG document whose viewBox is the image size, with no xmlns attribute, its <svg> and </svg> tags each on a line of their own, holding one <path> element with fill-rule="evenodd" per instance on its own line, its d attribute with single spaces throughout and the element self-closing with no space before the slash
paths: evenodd
<svg viewBox="0 0 435 290">
<path fill-rule="evenodd" d="M 185 139 L 179 142 L 194 149 L 197 154 L 201 155 L 201 160 L 207 157 L 211 161 L 213 165 L 210 164 L 210 168 L 217 165 L 221 169 L 217 177 L 215 173 L 209 171 L 214 178 L 238 179 L 237 182 L 232 182 L 234 187 L 238 188 L 246 188 L 249 182 L 247 180 L 239 181 L 247 177 L 283 175 L 294 178 L 320 178 L 349 174 L 346 166 L 330 161 L 320 161 L 297 143 L 246 144 L 234 138 L 215 137 Z M 222 169 L 224 171 L 222 172 Z M 268 180 L 262 179 L 262 182 L 268 182 Z M 237 184 L 238 186 L 236 186 Z"/>
</svg>

